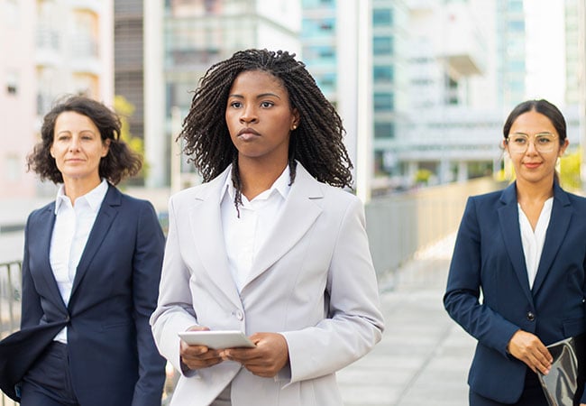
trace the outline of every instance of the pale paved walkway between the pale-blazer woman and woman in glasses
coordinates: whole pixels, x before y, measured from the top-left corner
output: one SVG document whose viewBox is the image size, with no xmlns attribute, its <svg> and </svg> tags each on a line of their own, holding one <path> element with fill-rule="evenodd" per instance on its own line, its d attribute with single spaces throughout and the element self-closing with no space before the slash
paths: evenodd
<svg viewBox="0 0 586 406">
<path fill-rule="evenodd" d="M 475 341 L 442 297 L 453 236 L 381 281 L 386 330 L 379 345 L 338 373 L 347 406 L 465 406 Z M 386 285 L 392 289 L 384 290 Z"/>
</svg>

